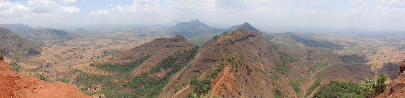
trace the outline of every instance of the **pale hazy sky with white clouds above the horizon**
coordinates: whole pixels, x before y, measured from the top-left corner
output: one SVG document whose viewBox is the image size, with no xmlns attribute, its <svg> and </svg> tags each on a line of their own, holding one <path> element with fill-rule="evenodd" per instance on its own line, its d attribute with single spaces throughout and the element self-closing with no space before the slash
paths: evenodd
<svg viewBox="0 0 405 98">
<path fill-rule="evenodd" d="M 217 24 L 405 31 L 405 0 L 0 0 L 0 24 Z"/>
</svg>

